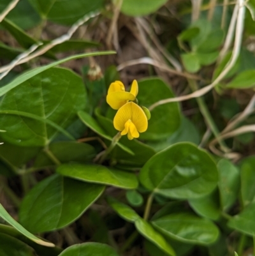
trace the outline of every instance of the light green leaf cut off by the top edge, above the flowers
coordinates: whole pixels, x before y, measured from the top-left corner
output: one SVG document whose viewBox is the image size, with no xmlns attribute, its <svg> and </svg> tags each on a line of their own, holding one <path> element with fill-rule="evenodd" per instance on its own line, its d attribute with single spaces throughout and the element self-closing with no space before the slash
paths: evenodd
<svg viewBox="0 0 255 256">
<path fill-rule="evenodd" d="M 168 0 L 123 0 L 120 11 L 128 16 L 143 16 L 157 11 Z"/>
</svg>

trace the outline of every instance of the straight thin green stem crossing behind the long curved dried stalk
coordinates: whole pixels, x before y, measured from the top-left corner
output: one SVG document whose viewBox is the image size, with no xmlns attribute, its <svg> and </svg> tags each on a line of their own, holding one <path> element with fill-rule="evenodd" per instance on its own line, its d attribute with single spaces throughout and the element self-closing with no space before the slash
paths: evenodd
<svg viewBox="0 0 255 256">
<path fill-rule="evenodd" d="M 193 80 L 193 79 L 187 79 L 187 80 L 189 82 L 189 86 L 191 87 L 191 89 L 193 91 L 198 90 L 198 85 L 196 84 L 195 80 Z M 228 147 L 226 146 L 224 141 L 219 140 L 219 130 L 218 130 L 216 124 L 214 123 L 214 119 L 212 118 L 212 116 L 207 108 L 207 105 L 205 104 L 205 101 L 203 100 L 203 97 L 196 98 L 196 102 L 198 103 L 201 114 L 205 118 L 205 122 L 209 126 L 209 128 L 212 131 L 212 133 L 214 134 L 215 138 L 218 140 L 219 145 L 221 146 L 221 149 L 225 152 L 229 151 Z"/>
</svg>

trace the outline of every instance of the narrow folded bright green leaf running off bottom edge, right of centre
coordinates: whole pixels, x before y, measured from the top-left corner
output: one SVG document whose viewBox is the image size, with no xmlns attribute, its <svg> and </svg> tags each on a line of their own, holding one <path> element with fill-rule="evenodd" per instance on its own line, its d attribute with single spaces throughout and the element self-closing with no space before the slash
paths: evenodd
<svg viewBox="0 0 255 256">
<path fill-rule="evenodd" d="M 161 234 L 153 229 L 150 223 L 146 222 L 142 218 L 138 218 L 135 221 L 135 227 L 142 236 L 154 243 L 154 245 L 163 250 L 163 252 L 168 253 L 168 255 L 175 255 L 173 248 L 171 248 Z"/>
</svg>

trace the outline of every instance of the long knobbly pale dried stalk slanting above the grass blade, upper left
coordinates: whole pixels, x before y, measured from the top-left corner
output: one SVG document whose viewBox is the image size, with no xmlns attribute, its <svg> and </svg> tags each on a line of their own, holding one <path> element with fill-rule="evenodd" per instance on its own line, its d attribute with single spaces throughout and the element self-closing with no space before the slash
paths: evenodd
<svg viewBox="0 0 255 256">
<path fill-rule="evenodd" d="M 20 59 L 19 61 L 17 61 L 17 63 L 15 63 L 15 66 L 17 66 L 18 64 L 26 63 L 27 61 L 30 61 L 31 59 L 34 59 L 35 57 L 41 56 L 42 54 L 45 54 L 45 52 L 47 52 L 48 50 L 52 49 L 55 45 L 59 45 L 60 43 L 63 43 L 64 41 L 68 41 L 71 38 L 71 36 L 73 36 L 73 33 L 75 33 L 75 31 L 77 31 L 78 27 L 82 26 L 82 24 L 87 22 L 89 19 L 94 18 L 98 15 L 99 15 L 98 11 L 89 13 L 88 15 L 85 15 L 84 17 L 82 17 L 82 19 L 78 20 L 77 22 L 75 22 L 75 24 L 73 24 L 73 26 L 71 26 L 71 28 L 68 30 L 68 33 L 60 36 L 59 38 L 56 38 L 56 39 L 50 41 L 50 43 L 45 45 L 45 47 L 42 47 L 40 50 L 37 50 L 33 54 L 30 54 L 30 55 L 27 54 L 27 56 L 22 57 L 22 59 Z M 35 45 L 37 45 L 37 44 L 35 44 Z M 32 47 L 34 47 L 34 45 Z M 0 72 L 5 72 L 5 71 L 10 72 L 12 68 L 14 68 L 14 66 L 13 66 L 13 64 L 10 63 L 10 64 L 0 68 Z"/>
</svg>

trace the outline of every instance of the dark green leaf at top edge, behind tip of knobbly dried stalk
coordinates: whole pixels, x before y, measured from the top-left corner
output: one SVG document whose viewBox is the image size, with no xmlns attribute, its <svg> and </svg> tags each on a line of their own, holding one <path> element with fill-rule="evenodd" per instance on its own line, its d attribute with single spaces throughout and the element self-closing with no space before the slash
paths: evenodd
<svg viewBox="0 0 255 256">
<path fill-rule="evenodd" d="M 47 2 L 43 4 L 46 5 Z M 91 11 L 101 8 L 103 8 L 103 0 L 89 2 L 80 0 L 55 1 L 47 13 L 47 19 L 58 24 L 72 25 L 84 15 L 89 15 Z"/>
</svg>

